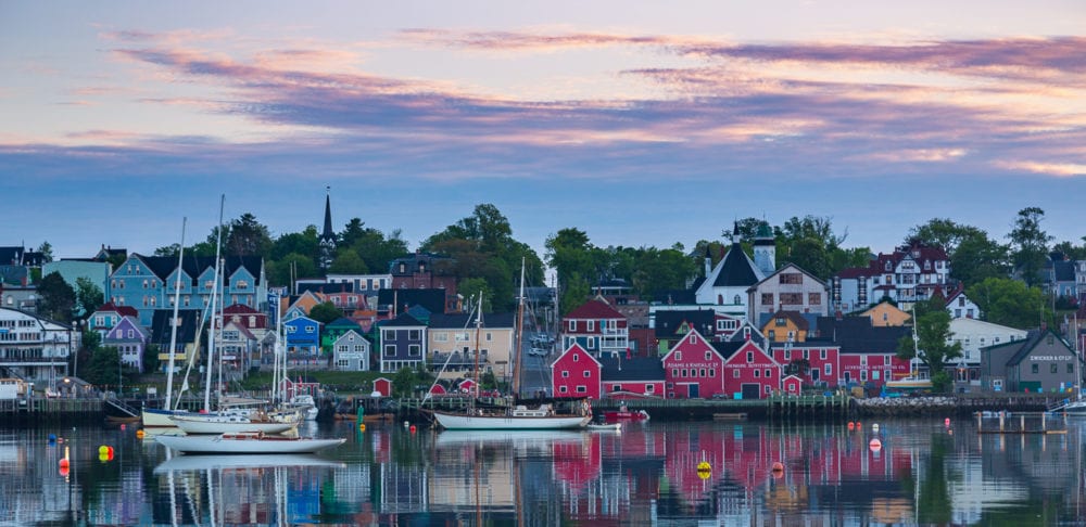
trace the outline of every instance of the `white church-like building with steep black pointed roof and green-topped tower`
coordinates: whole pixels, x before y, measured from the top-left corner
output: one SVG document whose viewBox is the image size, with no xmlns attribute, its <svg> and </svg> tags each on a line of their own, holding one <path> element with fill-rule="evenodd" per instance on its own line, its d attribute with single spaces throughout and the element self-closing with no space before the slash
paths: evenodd
<svg viewBox="0 0 1086 527">
<path fill-rule="evenodd" d="M 768 246 L 762 247 L 769 250 Z M 775 249 L 774 249 L 775 250 Z M 767 260 L 768 255 L 761 257 Z M 715 306 L 718 312 L 746 318 L 749 312 L 747 290 L 766 279 L 767 270 L 759 268 L 740 244 L 738 223 L 732 231 L 732 245 L 716 267 L 705 255 L 705 280 L 695 288 L 694 298 L 700 306 Z M 772 272 L 772 270 L 769 270 Z"/>
</svg>

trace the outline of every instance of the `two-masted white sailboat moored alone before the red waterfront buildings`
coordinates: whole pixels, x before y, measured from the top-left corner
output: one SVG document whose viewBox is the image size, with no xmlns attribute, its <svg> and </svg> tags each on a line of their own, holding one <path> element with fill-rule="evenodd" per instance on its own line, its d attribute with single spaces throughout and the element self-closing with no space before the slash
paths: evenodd
<svg viewBox="0 0 1086 527">
<path fill-rule="evenodd" d="M 513 349 L 514 373 L 513 373 L 513 397 L 520 395 L 520 358 L 523 343 L 520 338 L 520 329 L 523 326 L 525 318 L 525 270 L 520 268 L 520 298 L 517 310 L 517 336 Z M 479 330 L 482 326 L 482 297 L 479 298 L 479 310 L 476 314 L 476 367 L 475 376 L 479 378 Z M 479 395 L 479 383 L 475 385 L 476 397 Z M 512 408 L 482 409 L 476 408 L 475 399 L 465 411 L 428 410 L 433 419 L 445 429 L 470 430 L 470 429 L 561 429 L 581 428 L 592 420 L 592 408 L 588 400 L 579 401 L 577 409 L 572 412 L 559 412 L 548 403 L 539 404 L 535 408 L 528 408 L 527 404 L 514 404 Z"/>
</svg>

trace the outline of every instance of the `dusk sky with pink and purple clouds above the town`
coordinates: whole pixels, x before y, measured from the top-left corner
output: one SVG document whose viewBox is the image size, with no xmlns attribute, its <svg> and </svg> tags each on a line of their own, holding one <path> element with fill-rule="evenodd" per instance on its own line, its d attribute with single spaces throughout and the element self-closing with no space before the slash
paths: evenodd
<svg viewBox="0 0 1086 527">
<path fill-rule="evenodd" d="M 735 219 L 888 252 L 950 218 L 1086 235 L 1086 2 L 0 0 L 0 245 L 150 254 L 251 213 L 543 252 Z"/>
</svg>

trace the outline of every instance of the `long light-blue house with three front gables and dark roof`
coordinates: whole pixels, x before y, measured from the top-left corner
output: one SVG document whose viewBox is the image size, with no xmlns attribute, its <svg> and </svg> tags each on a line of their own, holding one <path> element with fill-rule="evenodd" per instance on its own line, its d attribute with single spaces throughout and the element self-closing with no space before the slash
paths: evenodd
<svg viewBox="0 0 1086 527">
<path fill-rule="evenodd" d="M 224 258 L 223 301 L 254 309 L 266 307 L 267 281 L 264 260 L 257 257 Z M 186 256 L 181 273 L 180 308 L 200 309 L 211 303 L 215 286 L 215 258 Z M 110 274 L 109 301 L 131 306 L 139 312 L 140 324 L 151 325 L 156 309 L 172 309 L 177 281 L 177 258 L 131 254 Z"/>
</svg>

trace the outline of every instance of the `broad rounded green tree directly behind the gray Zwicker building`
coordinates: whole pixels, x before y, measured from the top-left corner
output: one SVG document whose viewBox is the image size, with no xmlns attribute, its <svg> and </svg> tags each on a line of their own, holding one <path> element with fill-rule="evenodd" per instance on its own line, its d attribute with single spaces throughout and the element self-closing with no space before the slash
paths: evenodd
<svg viewBox="0 0 1086 527">
<path fill-rule="evenodd" d="M 1053 314 L 1039 287 L 1031 287 L 1018 280 L 988 278 L 965 290 L 988 322 L 1020 330 L 1037 327 L 1041 323 L 1052 326 Z"/>
</svg>

